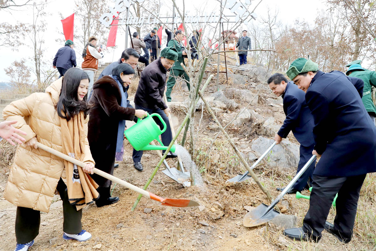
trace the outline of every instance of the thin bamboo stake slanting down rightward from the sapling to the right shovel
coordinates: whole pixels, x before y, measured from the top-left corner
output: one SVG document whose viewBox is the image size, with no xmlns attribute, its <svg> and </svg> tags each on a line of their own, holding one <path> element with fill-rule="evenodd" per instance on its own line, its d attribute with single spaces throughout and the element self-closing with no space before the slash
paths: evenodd
<svg viewBox="0 0 376 251">
<path fill-rule="evenodd" d="M 215 121 L 215 123 L 217 123 L 217 125 L 219 126 L 220 130 L 223 132 L 224 136 L 227 138 L 227 141 L 229 141 L 230 145 L 232 146 L 232 148 L 234 149 L 235 153 L 238 155 L 241 163 L 243 163 L 243 166 L 246 167 L 247 171 L 249 172 L 249 174 L 252 176 L 253 180 L 256 182 L 256 184 L 259 186 L 259 188 L 262 190 L 262 192 L 264 192 L 266 194 L 266 196 L 268 197 L 269 201 L 272 202 L 273 201 L 273 198 L 271 197 L 270 195 L 270 192 L 264 187 L 262 186 L 260 180 L 257 178 L 257 176 L 255 175 L 255 173 L 252 171 L 252 169 L 249 167 L 248 163 L 246 160 L 244 160 L 244 158 L 241 156 L 240 152 L 238 151 L 237 147 L 235 146 L 235 144 L 233 143 L 233 141 L 231 140 L 230 136 L 227 134 L 227 132 L 223 129 L 221 123 L 218 121 L 217 117 L 215 116 L 215 114 L 213 113 L 213 111 L 211 110 L 210 108 L 210 105 L 209 103 L 206 101 L 205 97 L 203 96 L 202 92 L 199 91 L 199 95 L 202 99 L 202 101 L 205 103 L 205 106 L 206 106 L 206 110 L 209 112 L 209 114 L 212 116 L 213 120 Z M 279 208 L 278 206 L 276 206 L 276 210 L 279 211 Z"/>
</svg>

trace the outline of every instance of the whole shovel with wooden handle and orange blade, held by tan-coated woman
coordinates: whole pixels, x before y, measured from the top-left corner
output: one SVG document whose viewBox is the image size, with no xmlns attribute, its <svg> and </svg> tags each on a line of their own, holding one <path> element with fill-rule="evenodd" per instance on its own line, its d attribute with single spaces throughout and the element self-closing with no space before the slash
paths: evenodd
<svg viewBox="0 0 376 251">
<path fill-rule="evenodd" d="M 80 167 L 85 167 L 86 164 L 83 163 L 82 161 L 79 161 L 79 160 L 76 160 L 75 158 L 72 158 L 72 157 L 69 157 L 68 155 L 65 155 L 55 149 L 52 149 L 46 145 L 43 145 L 41 143 L 36 143 L 38 145 L 38 148 L 46 151 L 46 152 L 49 152 L 53 155 L 56 155 L 57 157 L 60 157 L 64 160 L 67 160 L 73 164 L 76 164 L 77 166 L 80 166 Z M 150 198 L 150 199 L 154 199 L 155 201 L 159 201 L 159 202 L 162 202 L 161 205 L 164 205 L 164 206 L 170 206 L 170 207 L 195 207 L 195 206 L 199 206 L 200 204 L 197 203 L 196 201 L 193 201 L 191 199 L 168 199 L 168 198 L 162 198 L 162 197 L 159 197 L 158 195 L 155 195 L 153 193 L 150 193 L 150 192 L 147 192 L 139 187 L 136 187 L 130 183 L 127 183 L 126 181 L 123 181 L 119 178 L 116 178 L 115 176 L 112 176 L 106 172 L 103 172 L 97 168 L 93 168 L 93 172 L 96 173 L 97 175 L 100 175 L 108 180 L 111 180 L 111 181 L 114 181 L 124 187 L 127 187 L 129 188 L 130 190 L 133 190 L 137 193 L 141 193 L 143 196 L 147 197 L 147 198 Z"/>
</svg>

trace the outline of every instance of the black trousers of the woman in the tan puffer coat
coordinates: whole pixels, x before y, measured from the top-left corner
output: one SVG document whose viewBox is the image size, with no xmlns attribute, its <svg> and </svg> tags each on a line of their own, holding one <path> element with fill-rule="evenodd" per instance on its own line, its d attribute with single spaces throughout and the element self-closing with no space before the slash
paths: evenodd
<svg viewBox="0 0 376 251">
<path fill-rule="evenodd" d="M 82 209 L 77 211 L 76 206 L 69 203 L 67 186 L 62 179 L 59 180 L 56 189 L 63 201 L 63 231 L 67 234 L 80 233 L 82 230 Z M 39 234 L 40 223 L 40 211 L 27 207 L 17 207 L 15 224 L 17 243 L 25 244 L 35 239 Z"/>
</svg>

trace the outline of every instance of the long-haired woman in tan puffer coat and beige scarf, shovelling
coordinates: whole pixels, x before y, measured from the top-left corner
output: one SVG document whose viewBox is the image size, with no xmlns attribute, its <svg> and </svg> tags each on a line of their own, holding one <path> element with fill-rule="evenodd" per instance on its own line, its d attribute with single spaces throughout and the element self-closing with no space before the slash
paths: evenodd
<svg viewBox="0 0 376 251">
<path fill-rule="evenodd" d="M 6 120 L 26 132 L 17 148 L 4 196 L 17 206 L 15 250 L 26 251 L 39 233 L 40 211 L 48 212 L 55 190 L 63 201 L 63 239 L 80 242 L 91 238 L 82 230 L 82 207 L 98 198 L 93 173 L 94 160 L 87 140 L 88 75 L 70 68 L 45 93 L 12 102 L 3 111 Z M 36 145 L 40 142 L 86 163 L 77 167 Z"/>
</svg>

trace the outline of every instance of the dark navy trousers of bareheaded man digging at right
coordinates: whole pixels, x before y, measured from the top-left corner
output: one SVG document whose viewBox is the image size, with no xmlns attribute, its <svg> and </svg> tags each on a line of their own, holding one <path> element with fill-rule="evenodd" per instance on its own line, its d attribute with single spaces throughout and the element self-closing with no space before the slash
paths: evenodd
<svg viewBox="0 0 376 251">
<path fill-rule="evenodd" d="M 298 173 L 300 169 L 302 169 L 303 166 L 312 157 L 312 151 L 313 151 L 314 146 L 315 144 L 313 144 L 312 146 L 300 145 L 300 149 L 299 149 L 300 159 L 299 159 L 298 169 L 296 173 Z M 309 186 L 312 184 L 312 175 L 313 175 L 313 171 L 315 170 L 315 164 L 316 164 L 316 161 L 314 160 L 312 164 L 307 168 L 307 170 L 302 174 L 302 176 L 300 176 L 300 178 L 296 181 L 293 188 L 299 191 L 309 188 Z"/>
</svg>

